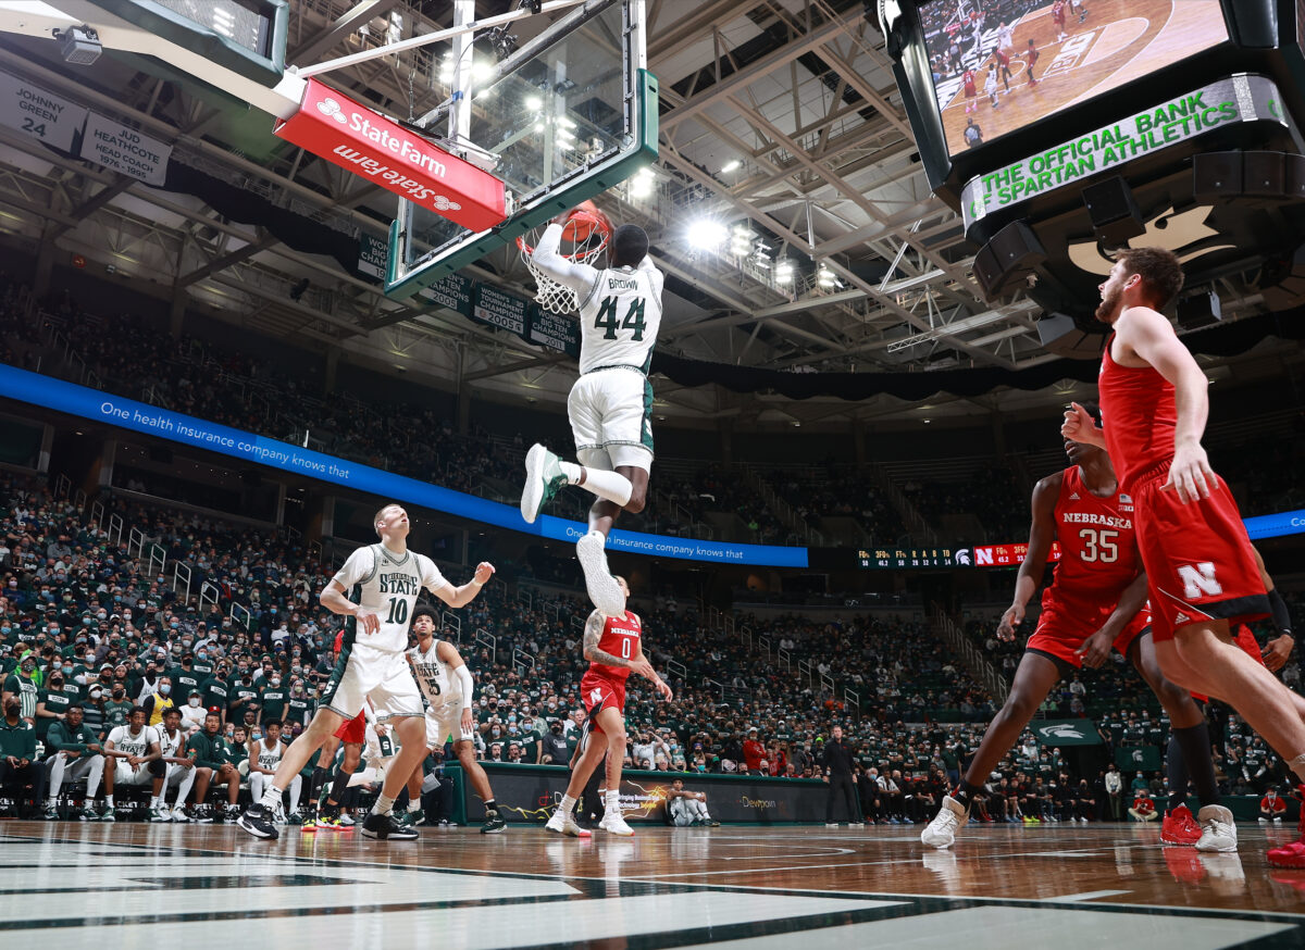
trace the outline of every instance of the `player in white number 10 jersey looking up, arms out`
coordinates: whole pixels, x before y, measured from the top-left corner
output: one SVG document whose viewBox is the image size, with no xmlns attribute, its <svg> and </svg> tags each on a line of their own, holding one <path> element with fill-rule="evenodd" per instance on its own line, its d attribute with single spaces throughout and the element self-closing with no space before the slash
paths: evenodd
<svg viewBox="0 0 1305 950">
<path fill-rule="evenodd" d="M 393 816 L 394 799 L 407 783 L 414 766 L 425 757 L 425 727 L 422 693 L 408 671 L 405 651 L 408 616 L 423 587 L 450 607 L 466 607 L 493 575 L 493 565 L 480 562 L 475 577 L 454 587 L 435 562 L 408 551 L 408 517 L 401 505 L 386 505 L 372 519 L 380 544 L 358 548 L 322 589 L 320 600 L 345 620 L 345 641 L 322 702 L 308 728 L 281 757 L 277 774 L 262 796 L 240 816 L 240 827 L 256 838 L 277 838 L 271 810 L 291 779 L 308 763 L 346 719 L 358 715 L 368 699 L 381 723 L 394 720 L 402 750 L 372 813 L 363 822 L 368 838 L 415 839 L 415 829 L 403 827 Z"/>
</svg>

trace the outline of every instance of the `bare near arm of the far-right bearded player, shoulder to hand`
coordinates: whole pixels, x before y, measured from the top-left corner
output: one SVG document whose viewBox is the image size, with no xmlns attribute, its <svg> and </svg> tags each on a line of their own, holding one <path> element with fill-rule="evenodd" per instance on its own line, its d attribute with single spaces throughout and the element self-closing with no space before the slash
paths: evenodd
<svg viewBox="0 0 1305 950">
<path fill-rule="evenodd" d="M 1122 354 L 1137 354 L 1173 384 L 1177 423 L 1173 428 L 1173 462 L 1164 489 L 1177 489 L 1184 504 L 1208 498 L 1215 472 L 1201 446 L 1210 416 L 1206 375 L 1164 314 L 1150 307 L 1130 307 L 1116 322 L 1114 333 Z"/>
</svg>

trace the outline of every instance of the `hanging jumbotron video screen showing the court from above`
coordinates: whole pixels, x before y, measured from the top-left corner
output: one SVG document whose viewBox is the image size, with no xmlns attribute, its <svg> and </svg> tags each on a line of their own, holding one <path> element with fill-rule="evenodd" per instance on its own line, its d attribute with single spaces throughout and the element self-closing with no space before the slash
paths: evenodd
<svg viewBox="0 0 1305 950">
<path fill-rule="evenodd" d="M 1228 39 L 1219 0 L 932 0 L 919 10 L 953 155 Z"/>
</svg>

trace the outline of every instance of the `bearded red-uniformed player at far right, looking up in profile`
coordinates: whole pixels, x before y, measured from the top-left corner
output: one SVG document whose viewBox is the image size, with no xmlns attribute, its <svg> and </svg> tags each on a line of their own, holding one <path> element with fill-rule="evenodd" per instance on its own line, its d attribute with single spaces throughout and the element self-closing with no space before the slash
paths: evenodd
<svg viewBox="0 0 1305 950">
<path fill-rule="evenodd" d="M 1096 309 L 1114 328 L 1099 378 L 1104 429 L 1075 405 L 1061 431 L 1108 445 L 1134 498 L 1165 676 L 1232 705 L 1305 779 L 1305 697 L 1232 642 L 1231 624 L 1267 616 L 1270 604 L 1237 502 L 1201 446 L 1206 375 L 1160 313 L 1181 287 L 1171 251 L 1118 253 Z M 1305 866 L 1305 839 L 1268 861 Z"/>
</svg>

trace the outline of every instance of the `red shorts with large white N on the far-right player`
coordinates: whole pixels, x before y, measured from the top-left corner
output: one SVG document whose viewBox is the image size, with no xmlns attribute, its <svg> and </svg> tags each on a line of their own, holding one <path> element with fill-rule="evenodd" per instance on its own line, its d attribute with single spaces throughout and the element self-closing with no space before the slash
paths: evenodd
<svg viewBox="0 0 1305 950">
<path fill-rule="evenodd" d="M 1176 491 L 1160 491 L 1168 478 L 1161 466 L 1133 492 L 1156 642 L 1189 624 L 1267 617 L 1265 582 L 1228 485 L 1216 478 L 1208 498 L 1184 505 Z"/>
</svg>

